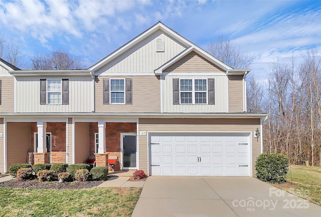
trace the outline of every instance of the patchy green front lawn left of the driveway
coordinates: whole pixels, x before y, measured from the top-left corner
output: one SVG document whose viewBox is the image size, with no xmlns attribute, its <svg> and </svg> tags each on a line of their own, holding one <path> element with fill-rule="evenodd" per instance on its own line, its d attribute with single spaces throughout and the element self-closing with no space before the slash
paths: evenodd
<svg viewBox="0 0 321 217">
<path fill-rule="evenodd" d="M 0 216 L 131 216 L 141 188 L 0 188 Z"/>
</svg>

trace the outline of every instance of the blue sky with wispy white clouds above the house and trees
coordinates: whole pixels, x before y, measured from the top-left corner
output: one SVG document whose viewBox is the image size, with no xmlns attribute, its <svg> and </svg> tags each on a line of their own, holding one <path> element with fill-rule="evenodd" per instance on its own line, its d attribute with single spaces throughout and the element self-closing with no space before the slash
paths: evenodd
<svg viewBox="0 0 321 217">
<path fill-rule="evenodd" d="M 205 50 L 230 38 L 255 57 L 256 77 L 276 59 L 321 52 L 321 1 L 0 0 L 0 34 L 21 44 L 29 65 L 62 49 L 89 67 L 158 21 Z"/>
</svg>

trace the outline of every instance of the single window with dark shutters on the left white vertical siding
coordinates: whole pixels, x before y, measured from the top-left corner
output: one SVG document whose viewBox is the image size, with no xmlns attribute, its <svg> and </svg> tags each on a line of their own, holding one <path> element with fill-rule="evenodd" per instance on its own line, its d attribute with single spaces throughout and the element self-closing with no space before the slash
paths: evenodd
<svg viewBox="0 0 321 217">
<path fill-rule="evenodd" d="M 69 104 L 69 80 L 40 79 L 40 104 Z"/>
</svg>

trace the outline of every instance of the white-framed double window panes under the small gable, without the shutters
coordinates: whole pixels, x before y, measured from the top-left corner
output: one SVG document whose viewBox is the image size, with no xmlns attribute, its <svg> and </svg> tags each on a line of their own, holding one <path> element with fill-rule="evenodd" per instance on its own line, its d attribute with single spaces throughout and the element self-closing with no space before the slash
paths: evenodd
<svg viewBox="0 0 321 217">
<path fill-rule="evenodd" d="M 206 104 L 206 81 L 206 79 L 181 79 L 181 104 Z"/>
</svg>

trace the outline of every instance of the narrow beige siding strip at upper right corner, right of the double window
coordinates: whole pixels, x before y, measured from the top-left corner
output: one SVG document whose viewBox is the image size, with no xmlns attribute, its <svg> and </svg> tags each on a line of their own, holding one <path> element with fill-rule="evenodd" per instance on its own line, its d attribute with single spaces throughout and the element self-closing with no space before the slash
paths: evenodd
<svg viewBox="0 0 321 217">
<path fill-rule="evenodd" d="M 229 76 L 229 112 L 242 113 L 243 111 L 243 77 Z"/>
</svg>

